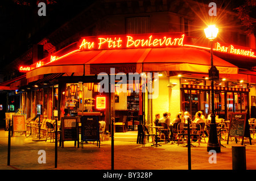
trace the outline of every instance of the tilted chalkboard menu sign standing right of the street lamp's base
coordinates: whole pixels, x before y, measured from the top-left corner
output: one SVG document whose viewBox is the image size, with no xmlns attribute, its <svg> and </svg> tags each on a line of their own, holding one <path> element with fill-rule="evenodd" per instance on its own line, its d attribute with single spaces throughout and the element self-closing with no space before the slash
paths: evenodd
<svg viewBox="0 0 256 181">
<path fill-rule="evenodd" d="M 245 122 L 246 122 L 246 113 L 232 113 L 228 134 L 229 137 L 243 137 L 245 136 Z"/>
</svg>

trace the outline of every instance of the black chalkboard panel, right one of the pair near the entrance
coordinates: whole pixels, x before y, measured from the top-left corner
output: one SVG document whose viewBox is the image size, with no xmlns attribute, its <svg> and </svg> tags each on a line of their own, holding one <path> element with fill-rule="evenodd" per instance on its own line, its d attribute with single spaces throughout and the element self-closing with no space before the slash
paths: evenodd
<svg viewBox="0 0 256 181">
<path fill-rule="evenodd" d="M 82 116 L 82 141 L 100 141 L 98 116 Z"/>
</svg>

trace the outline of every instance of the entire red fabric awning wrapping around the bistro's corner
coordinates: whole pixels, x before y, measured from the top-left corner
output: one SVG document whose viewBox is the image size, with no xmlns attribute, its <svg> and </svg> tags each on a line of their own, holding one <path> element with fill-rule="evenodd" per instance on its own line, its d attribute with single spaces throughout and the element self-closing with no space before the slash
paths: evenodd
<svg viewBox="0 0 256 181">
<path fill-rule="evenodd" d="M 220 74 L 237 74 L 238 68 L 213 56 Z M 142 71 L 191 71 L 208 73 L 210 53 L 196 48 L 137 48 L 80 51 L 59 58 L 27 73 L 27 78 L 49 73 L 92 75 L 101 72 L 141 73 Z"/>
</svg>

